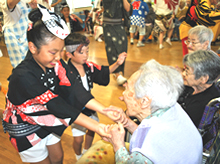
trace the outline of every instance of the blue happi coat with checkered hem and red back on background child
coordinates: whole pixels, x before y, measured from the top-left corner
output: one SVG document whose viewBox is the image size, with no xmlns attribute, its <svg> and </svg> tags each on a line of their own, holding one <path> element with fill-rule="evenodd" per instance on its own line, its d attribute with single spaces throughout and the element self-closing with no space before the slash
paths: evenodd
<svg viewBox="0 0 220 164">
<path fill-rule="evenodd" d="M 145 17 L 149 12 L 149 8 L 146 2 L 143 0 L 136 0 L 132 2 L 133 13 L 130 17 L 131 25 L 136 25 L 139 27 L 145 27 Z"/>
</svg>

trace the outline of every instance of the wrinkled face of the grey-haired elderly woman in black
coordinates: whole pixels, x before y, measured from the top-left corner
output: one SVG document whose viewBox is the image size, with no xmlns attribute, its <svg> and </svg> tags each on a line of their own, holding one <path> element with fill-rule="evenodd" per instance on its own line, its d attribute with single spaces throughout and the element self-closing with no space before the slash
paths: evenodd
<svg viewBox="0 0 220 164">
<path fill-rule="evenodd" d="M 193 68 L 185 65 L 185 68 L 182 74 L 183 74 L 184 85 L 191 86 L 191 87 L 200 85 L 200 79 L 197 79 L 197 80 L 195 79 Z"/>
</svg>

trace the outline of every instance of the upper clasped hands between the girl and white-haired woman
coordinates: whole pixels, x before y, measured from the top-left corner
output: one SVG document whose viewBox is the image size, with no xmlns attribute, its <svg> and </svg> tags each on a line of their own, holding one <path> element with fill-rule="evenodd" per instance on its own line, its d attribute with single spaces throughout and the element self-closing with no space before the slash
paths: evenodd
<svg viewBox="0 0 220 164">
<path fill-rule="evenodd" d="M 117 123 L 120 122 L 123 125 L 126 125 L 128 122 L 125 112 L 119 107 L 109 106 L 103 109 L 103 111 L 107 112 L 107 116 Z"/>
</svg>

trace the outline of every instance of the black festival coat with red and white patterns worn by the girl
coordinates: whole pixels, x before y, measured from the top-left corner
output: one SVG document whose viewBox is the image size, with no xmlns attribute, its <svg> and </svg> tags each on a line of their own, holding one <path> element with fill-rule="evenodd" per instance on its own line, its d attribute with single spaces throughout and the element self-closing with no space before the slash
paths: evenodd
<svg viewBox="0 0 220 164">
<path fill-rule="evenodd" d="M 93 98 L 75 79 L 63 61 L 44 72 L 30 52 L 13 70 L 3 120 L 17 151 L 29 149 L 51 133 L 61 136 L 74 122 L 81 112 L 74 103 L 85 105 Z"/>
</svg>

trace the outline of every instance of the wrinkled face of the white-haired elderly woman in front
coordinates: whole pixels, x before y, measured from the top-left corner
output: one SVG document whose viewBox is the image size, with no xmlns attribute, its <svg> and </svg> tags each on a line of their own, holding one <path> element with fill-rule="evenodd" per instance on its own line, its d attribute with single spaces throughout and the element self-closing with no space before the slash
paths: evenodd
<svg viewBox="0 0 220 164">
<path fill-rule="evenodd" d="M 124 102 L 127 106 L 126 114 L 128 116 L 136 116 L 139 113 L 140 104 L 139 101 L 135 98 L 134 92 L 134 83 L 137 80 L 140 72 L 135 72 L 127 81 L 125 86 L 125 91 L 123 92 Z"/>
</svg>

